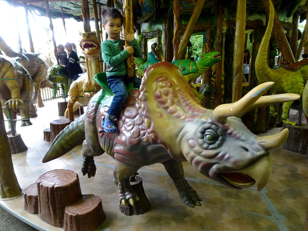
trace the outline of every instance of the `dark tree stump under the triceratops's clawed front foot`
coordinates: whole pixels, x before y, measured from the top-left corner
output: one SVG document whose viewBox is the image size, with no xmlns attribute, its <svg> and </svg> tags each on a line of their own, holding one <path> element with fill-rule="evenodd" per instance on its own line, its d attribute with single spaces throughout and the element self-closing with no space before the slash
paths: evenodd
<svg viewBox="0 0 308 231">
<path fill-rule="evenodd" d="M 126 216 L 140 215 L 148 212 L 150 209 L 150 201 L 144 193 L 144 188 L 142 185 L 142 178 L 140 176 L 135 176 L 135 181 L 130 182 L 132 189 L 138 194 L 139 201 L 135 201 L 135 205 L 122 205 L 120 203 L 120 210 Z"/>
</svg>

